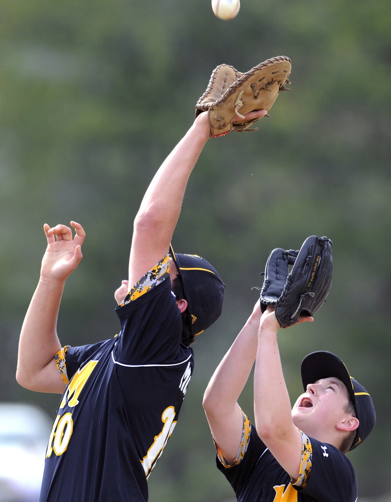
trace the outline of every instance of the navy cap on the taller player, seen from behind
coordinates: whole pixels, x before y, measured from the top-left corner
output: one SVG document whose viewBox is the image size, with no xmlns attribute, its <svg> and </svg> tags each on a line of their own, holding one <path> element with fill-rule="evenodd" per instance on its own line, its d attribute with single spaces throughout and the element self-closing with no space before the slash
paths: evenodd
<svg viewBox="0 0 391 502">
<path fill-rule="evenodd" d="M 197 336 L 220 317 L 225 285 L 204 258 L 174 253 L 172 245 L 170 256 L 181 278 L 191 332 Z"/>
</svg>

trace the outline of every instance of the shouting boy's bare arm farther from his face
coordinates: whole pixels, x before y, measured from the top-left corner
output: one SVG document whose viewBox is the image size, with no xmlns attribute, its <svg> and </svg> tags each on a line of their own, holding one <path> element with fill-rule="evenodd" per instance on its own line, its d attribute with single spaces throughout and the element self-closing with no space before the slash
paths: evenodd
<svg viewBox="0 0 391 502">
<path fill-rule="evenodd" d="M 260 315 L 259 302 L 256 302 L 252 314 L 218 365 L 205 391 L 203 406 L 209 427 L 228 464 L 235 460 L 240 446 L 243 416 L 237 400 L 255 360 Z"/>
</svg>

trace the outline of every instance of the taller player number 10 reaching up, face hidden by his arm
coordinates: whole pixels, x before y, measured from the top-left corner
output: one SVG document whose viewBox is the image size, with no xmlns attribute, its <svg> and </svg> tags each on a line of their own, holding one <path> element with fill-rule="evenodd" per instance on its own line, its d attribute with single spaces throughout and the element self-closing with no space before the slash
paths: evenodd
<svg viewBox="0 0 391 502">
<path fill-rule="evenodd" d="M 254 111 L 246 119 L 262 117 Z M 23 323 L 17 380 L 62 394 L 49 438 L 41 502 L 145 502 L 147 478 L 178 420 L 194 337 L 221 314 L 224 285 L 195 255 L 169 247 L 187 181 L 209 139 L 199 115 L 153 178 L 136 216 L 129 276 L 115 292 L 121 331 L 62 347 L 57 315 L 85 232 L 44 225 L 41 277 Z"/>
</svg>

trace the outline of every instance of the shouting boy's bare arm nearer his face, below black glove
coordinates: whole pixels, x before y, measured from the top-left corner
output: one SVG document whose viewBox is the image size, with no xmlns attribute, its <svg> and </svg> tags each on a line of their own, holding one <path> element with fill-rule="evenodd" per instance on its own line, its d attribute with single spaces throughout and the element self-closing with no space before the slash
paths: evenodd
<svg viewBox="0 0 391 502">
<path fill-rule="evenodd" d="M 302 317 L 300 322 L 313 321 Z M 292 422 L 291 402 L 285 384 L 277 343 L 280 328 L 274 308 L 262 315 L 254 370 L 254 414 L 258 436 L 293 478 L 299 477 L 302 438 Z"/>
</svg>

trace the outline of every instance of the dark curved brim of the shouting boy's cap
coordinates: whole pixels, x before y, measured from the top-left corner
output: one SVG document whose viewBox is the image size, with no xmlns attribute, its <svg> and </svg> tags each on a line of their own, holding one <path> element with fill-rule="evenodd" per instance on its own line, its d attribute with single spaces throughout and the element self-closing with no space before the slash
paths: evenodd
<svg viewBox="0 0 391 502">
<path fill-rule="evenodd" d="M 338 356 L 324 350 L 312 352 L 304 358 L 301 365 L 301 378 L 305 391 L 309 384 L 332 376 L 345 385 L 353 403 L 355 403 L 353 383 L 349 371 Z"/>
</svg>

